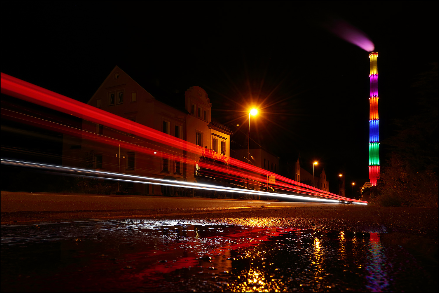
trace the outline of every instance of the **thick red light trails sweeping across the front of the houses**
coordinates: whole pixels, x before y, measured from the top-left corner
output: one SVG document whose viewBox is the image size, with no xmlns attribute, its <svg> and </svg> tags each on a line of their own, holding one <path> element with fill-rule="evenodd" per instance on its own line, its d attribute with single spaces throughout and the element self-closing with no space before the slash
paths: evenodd
<svg viewBox="0 0 439 293">
<path fill-rule="evenodd" d="M 147 139 L 148 141 L 154 141 L 155 143 L 158 143 L 158 145 L 155 149 L 152 149 L 151 147 L 140 146 L 135 143 L 124 141 L 121 138 L 117 139 L 108 136 L 97 135 L 94 132 L 88 132 L 82 129 L 76 129 L 74 127 L 62 125 L 61 123 L 49 121 L 44 118 L 37 118 L 31 115 L 22 114 L 16 111 L 11 111 L 9 109 L 2 108 L 2 113 L 1 113 L 2 116 L 7 117 L 9 119 L 20 121 L 20 122 L 24 121 L 25 123 L 28 123 L 30 125 L 39 125 L 40 127 L 43 127 L 45 129 L 50 129 L 56 132 L 62 132 L 68 135 L 80 137 L 82 139 L 87 139 L 100 144 L 121 146 L 122 148 L 151 155 L 152 157 L 156 157 L 156 158 L 160 158 L 162 154 L 172 155 L 173 157 L 180 160 L 182 163 L 186 163 L 186 164 L 192 164 L 194 162 L 194 159 L 190 158 L 191 157 L 190 155 L 183 156 L 182 151 L 186 151 L 189 154 L 193 154 L 192 157 L 202 156 L 210 159 L 215 159 L 208 152 L 205 152 L 204 150 L 203 151 L 200 150 L 199 146 L 196 146 L 194 143 L 189 143 L 185 140 L 178 139 L 175 137 L 170 138 L 168 135 L 165 135 L 163 132 L 160 132 L 158 130 L 151 129 L 145 125 L 141 125 L 139 123 L 130 121 L 128 119 L 122 118 L 120 116 L 109 113 L 107 111 L 98 109 L 88 104 L 81 103 L 77 100 L 73 100 L 66 96 L 62 96 L 58 93 L 54 93 L 48 89 L 41 88 L 29 82 L 25 82 L 20 79 L 14 78 L 10 75 L 1 73 L 0 86 L 1 86 L 1 93 L 14 96 L 16 98 L 26 100 L 35 104 L 39 104 L 48 107 L 50 109 L 61 111 L 63 113 L 72 114 L 78 118 L 82 118 L 97 124 L 102 124 L 105 125 L 106 127 L 118 130 L 123 133 L 135 134 L 139 138 Z M 248 179 L 248 180 L 252 180 L 253 182 L 257 182 L 257 185 L 259 185 L 261 188 L 266 186 L 267 183 L 266 178 L 267 175 L 270 173 L 269 171 L 236 160 L 234 158 L 227 158 L 227 160 L 228 160 L 229 168 L 225 168 L 224 165 L 219 165 L 219 164 L 217 165 L 217 164 L 206 163 L 202 161 L 197 161 L 197 164 L 199 165 L 199 167 L 203 169 L 206 175 L 210 175 L 210 176 L 205 176 L 206 178 L 207 177 L 223 178 L 235 182 L 245 182 Z M 58 166 L 58 168 L 61 167 Z M 90 173 L 97 171 L 86 170 L 86 172 Z M 124 176 L 128 176 L 128 175 L 124 175 Z M 243 177 L 246 177 L 245 180 L 242 180 Z M 153 180 L 155 182 L 160 182 L 160 180 L 164 180 L 164 179 L 157 179 L 152 177 L 142 177 L 142 180 L 145 180 L 145 178 L 148 178 L 148 180 Z M 124 180 L 131 180 L 131 179 L 124 179 Z M 178 182 L 179 182 L 178 184 L 183 184 L 181 183 L 181 181 Z M 162 183 L 165 182 L 162 181 Z M 166 184 L 171 184 L 171 183 L 168 182 Z M 196 186 L 196 185 L 192 185 L 192 186 Z M 219 188 L 218 186 L 214 186 L 214 187 L 204 186 L 204 187 Z M 274 187 L 280 191 L 306 194 L 306 195 L 317 196 L 317 197 L 325 197 L 327 198 L 326 200 L 330 200 L 331 198 L 332 200 L 336 200 L 337 202 L 340 200 L 342 201 L 349 200 L 350 202 L 358 201 L 364 204 L 367 203 L 360 200 L 352 200 L 346 197 L 340 197 L 339 195 L 336 195 L 334 193 L 322 191 L 316 187 L 308 186 L 306 184 L 297 182 L 292 179 L 288 179 L 278 174 L 276 175 L 276 183 L 270 184 L 270 187 Z M 196 188 L 196 187 L 191 187 L 191 188 Z M 229 188 L 228 190 L 234 190 L 234 189 Z M 273 193 L 268 193 L 263 191 L 255 192 L 249 189 L 238 189 L 238 190 L 240 190 L 240 192 L 242 190 L 245 190 L 245 193 L 247 194 L 251 193 L 258 195 L 261 194 L 261 195 L 273 196 Z M 237 191 L 231 191 L 231 192 L 237 192 Z M 291 195 L 288 194 L 286 195 L 283 193 L 276 192 L 274 194 L 275 196 L 279 196 L 279 197 L 282 196 L 291 197 Z"/>
</svg>

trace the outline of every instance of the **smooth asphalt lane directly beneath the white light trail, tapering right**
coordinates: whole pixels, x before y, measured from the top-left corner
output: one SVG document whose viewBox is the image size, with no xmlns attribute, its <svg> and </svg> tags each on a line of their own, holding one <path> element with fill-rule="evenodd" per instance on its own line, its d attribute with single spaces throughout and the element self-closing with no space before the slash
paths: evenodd
<svg viewBox="0 0 439 293">
<path fill-rule="evenodd" d="M 1 192 L 1 211 L 112 211 L 139 209 L 240 209 L 249 207 L 327 206 L 264 200 L 221 200 L 188 197 Z"/>
</svg>

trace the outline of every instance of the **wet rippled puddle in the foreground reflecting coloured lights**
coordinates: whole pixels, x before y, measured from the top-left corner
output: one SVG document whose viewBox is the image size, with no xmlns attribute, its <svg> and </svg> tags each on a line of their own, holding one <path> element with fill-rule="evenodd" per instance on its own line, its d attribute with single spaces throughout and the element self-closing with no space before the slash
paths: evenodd
<svg viewBox="0 0 439 293">
<path fill-rule="evenodd" d="M 2 291 L 388 292 L 434 279 L 377 233 L 115 220 L 2 229 Z M 227 222 L 227 221 L 226 221 Z M 253 225 L 253 226 L 252 226 Z M 255 227 L 255 226 L 256 227 Z"/>
</svg>

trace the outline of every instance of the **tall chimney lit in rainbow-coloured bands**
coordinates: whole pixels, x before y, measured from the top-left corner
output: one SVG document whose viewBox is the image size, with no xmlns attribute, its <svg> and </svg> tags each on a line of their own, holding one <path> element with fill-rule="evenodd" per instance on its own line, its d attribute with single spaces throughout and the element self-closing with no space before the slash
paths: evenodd
<svg viewBox="0 0 439 293">
<path fill-rule="evenodd" d="M 378 53 L 369 54 L 369 180 L 377 185 L 380 177 L 380 137 L 378 132 Z"/>
</svg>

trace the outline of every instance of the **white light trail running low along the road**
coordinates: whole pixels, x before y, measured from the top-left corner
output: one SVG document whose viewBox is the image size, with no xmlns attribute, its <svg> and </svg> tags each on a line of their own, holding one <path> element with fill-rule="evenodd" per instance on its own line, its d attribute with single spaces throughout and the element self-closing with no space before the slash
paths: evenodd
<svg viewBox="0 0 439 293">
<path fill-rule="evenodd" d="M 81 177 L 91 177 L 91 178 L 102 179 L 102 180 L 105 180 L 105 179 L 106 180 L 119 180 L 117 177 L 120 175 L 122 177 L 120 180 L 124 181 L 124 182 L 135 182 L 135 183 L 142 183 L 142 184 L 152 184 L 152 185 L 205 189 L 205 190 L 224 191 L 224 192 L 243 193 L 243 194 L 264 195 L 264 196 L 270 196 L 270 197 L 282 197 L 285 199 L 312 200 L 312 201 L 331 202 L 331 203 L 340 203 L 341 202 L 340 200 L 329 200 L 329 199 L 324 199 L 324 198 L 303 197 L 303 196 L 298 196 L 298 195 L 282 194 L 282 193 L 269 193 L 269 192 L 265 192 L 265 191 L 255 191 L 255 190 L 248 190 L 248 189 L 241 189 L 241 188 L 216 186 L 216 185 L 212 185 L 212 184 L 184 182 L 184 181 L 169 180 L 169 179 L 159 179 L 159 178 L 154 178 L 154 177 L 146 177 L 146 176 L 130 175 L 130 174 L 119 174 L 119 173 L 115 173 L 115 172 L 104 172 L 104 171 L 97 171 L 97 170 L 92 170 L 92 169 L 72 168 L 72 167 L 65 167 L 65 166 L 52 165 L 52 164 L 32 163 L 32 162 L 26 162 L 26 161 L 1 159 L 1 164 L 8 164 L 8 165 L 22 166 L 22 167 L 31 167 L 31 168 L 42 168 L 42 169 L 57 170 L 57 171 L 63 171 L 63 172 L 74 172 L 78 176 L 81 176 Z M 93 174 L 94 176 L 88 175 L 88 174 Z M 110 177 L 100 177 L 98 175 L 106 175 L 106 176 L 110 176 Z M 111 177 L 111 176 L 114 176 L 114 177 Z M 142 181 L 135 180 L 135 179 L 142 179 Z"/>
</svg>

